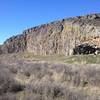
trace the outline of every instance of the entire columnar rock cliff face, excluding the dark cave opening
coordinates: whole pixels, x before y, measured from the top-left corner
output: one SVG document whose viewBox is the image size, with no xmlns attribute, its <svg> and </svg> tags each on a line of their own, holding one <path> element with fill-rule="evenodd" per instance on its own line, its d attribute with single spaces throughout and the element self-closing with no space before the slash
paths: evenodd
<svg viewBox="0 0 100 100">
<path fill-rule="evenodd" d="M 81 44 L 100 47 L 100 14 L 78 16 L 27 29 L 11 37 L 0 53 L 32 52 L 34 55 L 72 55 Z"/>
</svg>

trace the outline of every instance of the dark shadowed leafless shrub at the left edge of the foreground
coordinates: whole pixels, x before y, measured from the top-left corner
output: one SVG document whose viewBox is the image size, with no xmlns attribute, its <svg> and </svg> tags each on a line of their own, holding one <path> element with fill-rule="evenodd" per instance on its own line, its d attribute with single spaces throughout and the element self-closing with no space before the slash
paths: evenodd
<svg viewBox="0 0 100 100">
<path fill-rule="evenodd" d="M 7 92 L 19 92 L 23 86 L 16 82 L 5 69 L 0 70 L 0 95 Z"/>
</svg>

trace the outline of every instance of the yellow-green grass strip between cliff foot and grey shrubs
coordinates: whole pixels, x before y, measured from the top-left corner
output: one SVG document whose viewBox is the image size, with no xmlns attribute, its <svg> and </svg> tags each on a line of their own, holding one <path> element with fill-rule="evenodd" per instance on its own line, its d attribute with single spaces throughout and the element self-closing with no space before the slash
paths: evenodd
<svg viewBox="0 0 100 100">
<path fill-rule="evenodd" d="M 60 63 L 73 63 L 73 64 L 99 64 L 100 55 L 50 55 L 50 56 L 39 56 L 32 53 L 19 53 L 19 58 L 29 59 L 33 61 L 46 61 L 46 62 L 60 62 Z"/>
</svg>

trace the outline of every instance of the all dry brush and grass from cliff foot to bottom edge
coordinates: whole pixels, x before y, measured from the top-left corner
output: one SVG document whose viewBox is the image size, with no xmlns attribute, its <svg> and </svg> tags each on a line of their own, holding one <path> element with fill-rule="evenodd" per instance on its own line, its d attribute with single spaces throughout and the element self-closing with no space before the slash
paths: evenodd
<svg viewBox="0 0 100 100">
<path fill-rule="evenodd" d="M 79 57 L 1 55 L 0 100 L 100 100 L 100 65 Z"/>
</svg>

